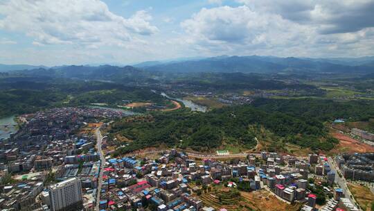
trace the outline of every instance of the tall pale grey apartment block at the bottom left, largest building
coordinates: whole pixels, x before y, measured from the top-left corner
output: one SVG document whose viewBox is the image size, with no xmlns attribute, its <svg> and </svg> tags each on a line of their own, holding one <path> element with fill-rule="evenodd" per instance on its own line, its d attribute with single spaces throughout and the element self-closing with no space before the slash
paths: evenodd
<svg viewBox="0 0 374 211">
<path fill-rule="evenodd" d="M 69 211 L 82 208 L 82 186 L 78 178 L 69 178 L 48 189 L 51 210 Z"/>
</svg>

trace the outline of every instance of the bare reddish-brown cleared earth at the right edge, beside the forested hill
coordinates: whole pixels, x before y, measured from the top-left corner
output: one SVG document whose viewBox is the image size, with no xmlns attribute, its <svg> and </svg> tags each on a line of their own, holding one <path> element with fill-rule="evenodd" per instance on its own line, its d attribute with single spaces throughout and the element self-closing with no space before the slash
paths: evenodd
<svg viewBox="0 0 374 211">
<path fill-rule="evenodd" d="M 374 146 L 370 146 L 368 144 L 364 144 L 353 138 L 337 133 L 332 132 L 331 134 L 333 137 L 339 140 L 339 144 L 332 149 L 332 153 L 369 153 L 374 152 Z"/>
</svg>

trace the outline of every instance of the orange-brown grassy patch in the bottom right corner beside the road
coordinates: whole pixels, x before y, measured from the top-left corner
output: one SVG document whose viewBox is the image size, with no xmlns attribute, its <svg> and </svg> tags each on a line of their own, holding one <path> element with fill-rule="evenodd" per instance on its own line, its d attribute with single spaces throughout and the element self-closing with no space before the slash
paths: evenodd
<svg viewBox="0 0 374 211">
<path fill-rule="evenodd" d="M 374 202 L 374 194 L 368 187 L 352 183 L 348 183 L 348 187 L 353 196 L 355 196 L 355 199 L 359 203 L 359 206 L 362 208 L 362 210 L 374 211 L 371 210 L 372 203 Z"/>
</svg>

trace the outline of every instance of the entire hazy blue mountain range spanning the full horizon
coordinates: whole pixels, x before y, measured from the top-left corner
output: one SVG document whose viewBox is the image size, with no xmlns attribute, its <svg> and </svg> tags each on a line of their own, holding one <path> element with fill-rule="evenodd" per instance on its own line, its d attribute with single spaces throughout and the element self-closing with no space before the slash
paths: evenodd
<svg viewBox="0 0 374 211">
<path fill-rule="evenodd" d="M 23 74 L 66 78 L 136 78 L 163 73 L 243 72 L 243 73 L 354 73 L 373 74 L 374 56 L 362 58 L 280 58 L 275 56 L 217 56 L 148 61 L 132 66 L 66 65 L 44 67 L 32 65 L 0 65 L 0 71 L 22 71 Z"/>
</svg>

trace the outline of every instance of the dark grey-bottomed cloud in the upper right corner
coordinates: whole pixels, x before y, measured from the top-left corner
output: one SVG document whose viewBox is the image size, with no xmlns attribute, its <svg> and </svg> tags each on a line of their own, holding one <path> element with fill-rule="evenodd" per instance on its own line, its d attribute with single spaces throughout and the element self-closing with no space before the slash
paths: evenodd
<svg viewBox="0 0 374 211">
<path fill-rule="evenodd" d="M 319 33 L 350 33 L 374 27 L 373 0 L 238 0 L 253 10 L 318 26 Z"/>
</svg>

